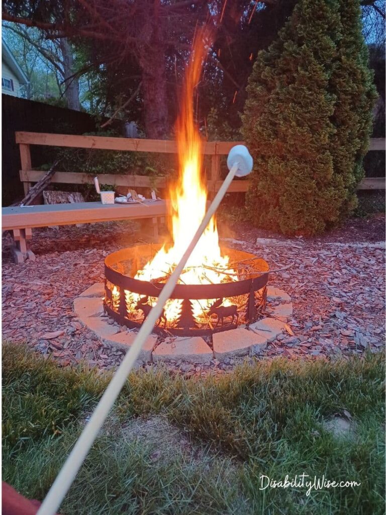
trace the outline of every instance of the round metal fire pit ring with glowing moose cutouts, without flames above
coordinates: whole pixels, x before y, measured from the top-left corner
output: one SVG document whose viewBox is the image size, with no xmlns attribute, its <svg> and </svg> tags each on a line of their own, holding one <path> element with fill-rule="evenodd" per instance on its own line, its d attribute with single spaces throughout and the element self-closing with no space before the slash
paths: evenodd
<svg viewBox="0 0 386 515">
<path fill-rule="evenodd" d="M 103 306 L 119 324 L 141 327 L 155 304 L 165 279 L 143 281 L 136 277 L 160 250 L 161 245 L 139 245 L 107 256 Z M 154 332 L 209 336 L 248 326 L 260 318 L 267 301 L 268 264 L 235 249 L 222 248 L 221 253 L 229 257 L 228 268 L 216 269 L 221 282 L 178 284 Z"/>
</svg>

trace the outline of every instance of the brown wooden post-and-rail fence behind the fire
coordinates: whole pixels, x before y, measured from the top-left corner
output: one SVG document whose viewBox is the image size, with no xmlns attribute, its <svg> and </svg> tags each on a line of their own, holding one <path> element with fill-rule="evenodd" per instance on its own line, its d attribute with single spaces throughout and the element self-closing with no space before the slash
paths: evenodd
<svg viewBox="0 0 386 515">
<path fill-rule="evenodd" d="M 127 138 L 106 138 L 101 136 L 77 136 L 70 134 L 47 134 L 41 132 L 16 132 L 16 143 L 20 146 L 21 170 L 20 180 L 24 192 L 27 193 L 32 182 L 41 179 L 45 172 L 32 169 L 30 145 L 47 145 L 58 147 L 95 148 L 104 150 L 120 150 L 135 152 L 177 153 L 174 141 L 166 140 L 135 140 Z M 203 153 L 210 156 L 210 174 L 207 181 L 209 193 L 213 194 L 221 185 L 220 158 L 226 156 L 230 149 L 242 142 L 206 142 Z M 374 138 L 370 141 L 370 150 L 384 150 L 385 139 Z M 165 188 L 165 178 L 153 178 L 142 175 L 98 174 L 100 184 L 128 187 Z M 57 171 L 51 182 L 61 184 L 92 184 L 93 176 L 84 173 Z M 247 180 L 234 180 L 229 192 L 246 192 L 249 187 Z M 384 190 L 385 178 L 365 178 L 358 186 L 359 190 Z"/>
</svg>

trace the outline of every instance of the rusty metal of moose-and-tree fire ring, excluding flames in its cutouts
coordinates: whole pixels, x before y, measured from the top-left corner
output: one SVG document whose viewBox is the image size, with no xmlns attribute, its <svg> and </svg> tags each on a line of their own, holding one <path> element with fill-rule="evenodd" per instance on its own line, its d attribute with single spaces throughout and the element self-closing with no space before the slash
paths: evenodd
<svg viewBox="0 0 386 515">
<path fill-rule="evenodd" d="M 103 300 L 104 311 L 119 324 L 126 325 L 130 329 L 139 329 L 143 323 L 143 320 L 138 322 L 130 319 L 130 314 L 127 312 L 126 308 L 125 290 L 142 296 L 152 298 L 159 297 L 160 291 L 163 287 L 162 283 L 141 281 L 134 279 L 134 276 L 138 270 L 142 269 L 154 257 L 161 247 L 161 245 L 156 244 L 136 245 L 113 252 L 105 259 L 104 274 L 106 281 Z M 198 324 L 195 322 L 192 315 L 189 316 L 189 300 L 224 299 L 237 297 L 239 295 L 247 295 L 248 306 L 245 314 L 243 314 L 244 322 L 248 325 L 255 320 L 259 307 L 264 309 L 266 305 L 269 271 L 268 263 L 261 258 L 256 258 L 253 254 L 240 250 L 223 247 L 221 248 L 221 252 L 222 255 L 229 256 L 230 268 L 235 269 L 239 274 L 242 273 L 242 266 L 232 265 L 232 263 L 239 263 L 241 261 L 248 262 L 249 268 L 252 268 L 252 271 L 249 270 L 246 274 L 247 278 L 229 283 L 176 285 L 170 298 L 182 299 L 183 303 L 186 303 L 184 319 L 181 320 L 181 326 L 179 327 L 179 324 L 177 324 L 177 327 L 166 327 L 167 322 L 161 320 L 159 321 L 159 325 L 156 325 L 154 328 L 154 332 L 168 332 L 178 336 L 209 336 L 216 332 L 227 331 L 238 327 L 237 323 L 234 323 L 234 317 L 232 317 L 231 323 L 224 323 L 224 319 L 222 319 L 221 326 L 218 325 L 220 316 L 224 313 L 224 310 L 221 312 L 221 307 L 223 309 L 223 306 L 219 306 L 217 308 L 218 313 L 216 314 L 218 315 L 218 320 L 215 327 L 197 327 Z M 108 286 L 109 284 L 110 288 Z M 115 303 L 112 298 L 113 286 L 117 288 L 119 293 L 119 299 Z M 260 306 L 256 306 L 256 292 L 259 292 L 259 297 L 261 297 Z M 237 311 L 238 308 L 236 305 L 235 307 Z M 237 311 L 237 320 L 238 315 L 239 313 Z M 143 313 L 143 317 L 143 319 L 145 319 L 145 311 Z M 214 322 L 216 322 L 216 320 L 214 320 Z M 164 327 L 162 327 L 162 323 L 164 323 Z"/>
</svg>

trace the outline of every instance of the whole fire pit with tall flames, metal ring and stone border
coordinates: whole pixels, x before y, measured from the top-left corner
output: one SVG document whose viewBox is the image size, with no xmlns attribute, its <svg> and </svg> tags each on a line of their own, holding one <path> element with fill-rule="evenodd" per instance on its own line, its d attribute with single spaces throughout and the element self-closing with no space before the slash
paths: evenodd
<svg viewBox="0 0 386 515">
<path fill-rule="evenodd" d="M 133 345 L 135 329 L 156 304 L 206 214 L 209 169 L 193 110 L 202 63 L 210 48 L 206 39 L 195 38 L 182 88 L 176 122 L 179 174 L 175 182 L 170 179 L 168 193 L 170 243 L 111 253 L 104 262 L 104 284 L 87 288 L 74 302 L 80 321 L 107 347 L 126 351 Z M 219 167 L 218 177 L 220 171 Z M 268 264 L 255 255 L 220 247 L 213 216 L 155 323 L 153 332 L 158 334 L 144 342 L 142 362 L 207 364 L 213 358 L 225 361 L 260 354 L 269 341 L 288 330 L 286 322 L 292 315 L 286 292 L 267 288 L 268 271 Z M 116 322 L 134 331 L 122 331 Z"/>
</svg>

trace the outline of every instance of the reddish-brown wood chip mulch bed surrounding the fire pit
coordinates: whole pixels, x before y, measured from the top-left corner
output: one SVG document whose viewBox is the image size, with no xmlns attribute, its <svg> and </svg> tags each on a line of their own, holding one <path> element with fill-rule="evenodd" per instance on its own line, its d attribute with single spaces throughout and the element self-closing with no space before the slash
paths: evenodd
<svg viewBox="0 0 386 515">
<path fill-rule="evenodd" d="M 271 269 L 269 283 L 292 297 L 288 331 L 268 345 L 266 357 L 334 359 L 384 347 L 384 217 L 349 220 L 319 238 L 285 238 L 245 224 L 223 228 L 223 244 L 260 255 Z M 219 224 L 221 227 L 221 224 Z M 82 327 L 73 301 L 102 282 L 107 254 L 144 243 L 133 222 L 107 222 L 33 230 L 34 261 L 12 262 L 9 234 L 3 235 L 3 339 L 27 342 L 62 366 L 86 361 L 116 367 L 122 351 L 104 346 Z M 208 365 L 177 362 L 187 375 L 223 373 L 235 361 Z M 155 367 L 154 364 L 145 368 Z"/>
</svg>

